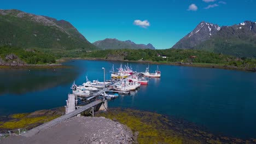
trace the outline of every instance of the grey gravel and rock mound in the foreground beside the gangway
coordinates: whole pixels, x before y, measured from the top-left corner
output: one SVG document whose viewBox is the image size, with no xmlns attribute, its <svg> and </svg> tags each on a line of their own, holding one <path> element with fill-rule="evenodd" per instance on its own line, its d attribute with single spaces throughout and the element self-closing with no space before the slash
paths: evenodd
<svg viewBox="0 0 256 144">
<path fill-rule="evenodd" d="M 138 134 L 137 134 L 138 135 Z M 104 117 L 73 117 L 32 137 L 9 136 L 0 143 L 137 143 L 126 125 Z"/>
</svg>

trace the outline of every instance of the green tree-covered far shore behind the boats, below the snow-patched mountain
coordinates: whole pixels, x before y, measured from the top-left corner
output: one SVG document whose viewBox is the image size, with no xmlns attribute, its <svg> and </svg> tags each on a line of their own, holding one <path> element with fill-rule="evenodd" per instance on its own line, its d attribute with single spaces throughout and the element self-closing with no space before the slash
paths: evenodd
<svg viewBox="0 0 256 144">
<path fill-rule="evenodd" d="M 101 50 L 85 53 L 83 57 L 117 59 L 128 61 L 148 61 L 159 63 L 181 64 L 215 64 L 236 68 L 256 68 L 256 59 L 246 57 L 234 57 L 222 53 L 207 52 L 201 50 Z"/>
</svg>

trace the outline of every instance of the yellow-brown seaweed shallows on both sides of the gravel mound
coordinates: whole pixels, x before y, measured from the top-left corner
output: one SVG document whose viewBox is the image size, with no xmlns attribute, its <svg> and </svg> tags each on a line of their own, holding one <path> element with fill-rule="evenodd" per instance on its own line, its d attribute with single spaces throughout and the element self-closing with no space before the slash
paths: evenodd
<svg viewBox="0 0 256 144">
<path fill-rule="evenodd" d="M 40 110 L 32 113 L 18 113 L 1 117 L 0 133 L 7 130 L 27 130 L 63 115 L 63 107 Z M 214 135 L 181 118 L 133 109 L 108 109 L 97 112 L 97 117 L 106 117 L 127 125 L 138 143 L 255 143 L 255 139 L 242 140 L 235 137 Z"/>
</svg>

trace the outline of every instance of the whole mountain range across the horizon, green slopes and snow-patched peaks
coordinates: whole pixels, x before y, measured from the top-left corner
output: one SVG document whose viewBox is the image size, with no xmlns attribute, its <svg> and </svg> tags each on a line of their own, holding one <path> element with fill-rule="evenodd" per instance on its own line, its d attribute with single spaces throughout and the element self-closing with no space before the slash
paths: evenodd
<svg viewBox="0 0 256 144">
<path fill-rule="evenodd" d="M 0 10 L 0 46 L 34 48 L 60 57 L 78 57 L 83 52 L 106 49 L 152 49 L 152 44 L 135 44 L 131 40 L 104 39 L 91 44 L 65 20 Z M 172 48 L 205 50 L 237 57 L 256 57 L 256 23 L 245 21 L 232 26 L 200 22 Z"/>
</svg>

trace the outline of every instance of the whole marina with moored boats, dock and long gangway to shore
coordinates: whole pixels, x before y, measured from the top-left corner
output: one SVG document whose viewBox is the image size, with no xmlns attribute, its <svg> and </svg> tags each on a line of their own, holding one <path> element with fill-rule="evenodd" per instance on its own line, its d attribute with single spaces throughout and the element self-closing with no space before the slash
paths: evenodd
<svg viewBox="0 0 256 144">
<path fill-rule="evenodd" d="M 127 64 L 128 65 L 128 64 Z M 57 123 L 65 121 L 68 118 L 84 115 L 84 116 L 94 116 L 96 111 L 106 111 L 108 109 L 108 100 L 114 100 L 125 95 L 129 95 L 131 91 L 137 91 L 141 85 L 148 85 L 149 68 L 146 72 L 137 73 L 137 71 L 132 71 L 131 68 L 125 65 L 123 69 L 120 65 L 117 73 L 112 73 L 114 75 L 121 76 L 117 79 L 115 76 L 111 76 L 112 79 L 105 80 L 105 69 L 104 70 L 104 81 L 100 82 L 98 80 L 93 80 L 92 82 L 86 77 L 86 82 L 82 85 L 75 85 L 73 82 L 71 89 L 72 93 L 68 94 L 65 105 L 65 115 L 53 119 L 52 121 L 43 123 L 38 127 L 32 129 L 23 130 L 22 133 L 19 129 L 18 135 L 31 137 L 36 135 L 42 130 L 53 127 Z M 145 75 L 149 74 L 149 75 Z M 125 77 L 123 75 L 126 75 Z M 153 76 L 158 75 L 158 76 Z M 152 77 L 160 77 L 160 71 L 152 73 Z M 14 135 L 13 130 L 9 130 L 9 135 Z"/>
</svg>

